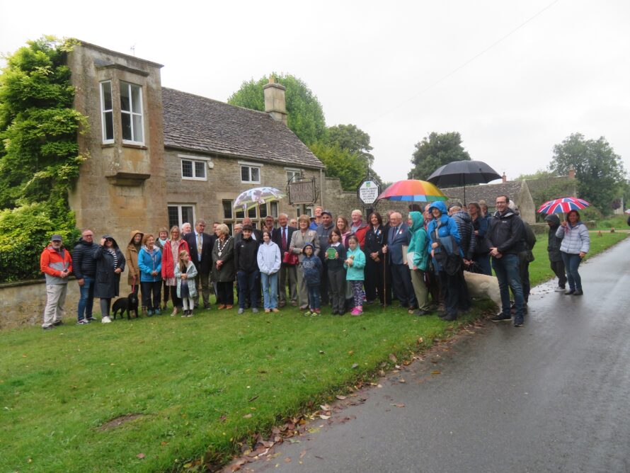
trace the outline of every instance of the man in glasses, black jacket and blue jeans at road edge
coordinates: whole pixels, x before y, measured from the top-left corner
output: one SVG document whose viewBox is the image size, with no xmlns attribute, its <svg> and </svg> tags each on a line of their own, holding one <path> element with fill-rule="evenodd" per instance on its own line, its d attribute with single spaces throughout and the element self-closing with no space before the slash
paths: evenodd
<svg viewBox="0 0 630 473">
<path fill-rule="evenodd" d="M 501 293 L 501 313 L 493 317 L 492 321 L 512 319 L 510 315 L 510 289 L 514 294 L 516 313 L 514 326 L 523 324 L 523 289 L 520 279 L 518 254 L 522 251 L 523 222 L 508 207 L 510 198 L 498 195 L 496 198 L 497 211 L 490 220 L 486 241 L 492 256 L 492 267 L 498 279 Z"/>
</svg>

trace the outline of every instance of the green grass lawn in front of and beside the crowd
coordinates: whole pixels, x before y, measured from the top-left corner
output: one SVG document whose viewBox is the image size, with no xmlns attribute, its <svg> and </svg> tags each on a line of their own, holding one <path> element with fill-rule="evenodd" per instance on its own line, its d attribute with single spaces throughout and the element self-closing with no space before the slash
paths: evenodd
<svg viewBox="0 0 630 473">
<path fill-rule="evenodd" d="M 624 236 L 593 236 L 592 253 Z M 541 239 L 532 285 L 551 276 L 545 249 Z M 464 321 L 487 307 L 476 304 Z M 375 307 L 362 317 L 213 309 L 70 323 L 0 333 L 1 472 L 163 471 L 203 455 L 227 460 L 239 441 L 391 364 L 390 353 L 408 357 L 457 329 L 435 315 Z M 127 414 L 141 415 L 103 428 Z"/>
</svg>

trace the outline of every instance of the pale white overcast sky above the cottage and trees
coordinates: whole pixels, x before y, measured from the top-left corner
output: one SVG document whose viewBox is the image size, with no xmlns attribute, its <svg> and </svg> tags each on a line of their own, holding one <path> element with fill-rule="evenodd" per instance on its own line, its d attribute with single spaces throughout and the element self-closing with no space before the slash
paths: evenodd
<svg viewBox="0 0 630 473">
<path fill-rule="evenodd" d="M 605 136 L 630 169 L 629 24 L 627 0 L 1 1 L 0 51 L 42 34 L 134 47 L 164 64 L 162 85 L 219 101 L 290 73 L 326 125 L 370 134 L 387 181 L 433 131 L 510 179 L 573 132 Z"/>
</svg>

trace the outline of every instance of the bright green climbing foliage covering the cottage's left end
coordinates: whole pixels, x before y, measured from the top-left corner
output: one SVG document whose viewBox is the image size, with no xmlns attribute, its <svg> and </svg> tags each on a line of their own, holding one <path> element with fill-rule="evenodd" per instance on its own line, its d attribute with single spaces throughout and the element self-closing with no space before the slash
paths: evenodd
<svg viewBox="0 0 630 473">
<path fill-rule="evenodd" d="M 53 233 L 74 242 L 68 191 L 87 159 L 72 108 L 67 54 L 75 40 L 43 36 L 6 57 L 0 74 L 0 283 L 38 278 L 39 254 Z M 70 245 L 71 246 L 71 245 Z"/>
</svg>

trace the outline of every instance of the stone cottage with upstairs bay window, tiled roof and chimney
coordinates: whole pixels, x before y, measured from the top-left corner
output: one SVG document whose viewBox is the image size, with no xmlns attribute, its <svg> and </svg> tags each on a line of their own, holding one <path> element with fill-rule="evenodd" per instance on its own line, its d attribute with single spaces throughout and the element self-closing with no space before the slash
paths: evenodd
<svg viewBox="0 0 630 473">
<path fill-rule="evenodd" d="M 285 88 L 265 86 L 267 112 L 247 110 L 161 86 L 161 64 L 82 42 L 69 54 L 74 106 L 88 116 L 79 136 L 81 166 L 69 196 L 79 228 L 113 234 L 204 218 L 230 227 L 239 193 L 256 186 L 287 188 L 313 178 L 316 201 L 288 199 L 248 211 L 257 226 L 267 215 L 297 215 L 325 202 L 324 166 L 286 126 Z"/>
</svg>

